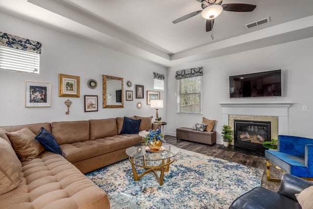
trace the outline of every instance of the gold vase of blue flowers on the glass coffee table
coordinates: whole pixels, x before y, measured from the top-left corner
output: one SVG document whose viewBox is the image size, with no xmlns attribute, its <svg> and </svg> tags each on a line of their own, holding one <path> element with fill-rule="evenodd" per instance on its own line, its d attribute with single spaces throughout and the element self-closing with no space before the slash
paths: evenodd
<svg viewBox="0 0 313 209">
<path fill-rule="evenodd" d="M 163 142 L 165 143 L 161 128 L 150 129 L 149 133 L 143 137 L 143 140 L 151 151 L 159 151 Z"/>
</svg>

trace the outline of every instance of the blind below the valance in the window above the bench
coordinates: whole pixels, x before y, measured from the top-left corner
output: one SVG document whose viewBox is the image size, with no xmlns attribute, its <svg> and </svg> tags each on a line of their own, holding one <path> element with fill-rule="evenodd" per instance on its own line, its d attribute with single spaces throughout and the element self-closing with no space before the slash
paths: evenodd
<svg viewBox="0 0 313 209">
<path fill-rule="evenodd" d="M 201 114 L 202 76 L 178 79 L 176 82 L 178 113 Z"/>
</svg>

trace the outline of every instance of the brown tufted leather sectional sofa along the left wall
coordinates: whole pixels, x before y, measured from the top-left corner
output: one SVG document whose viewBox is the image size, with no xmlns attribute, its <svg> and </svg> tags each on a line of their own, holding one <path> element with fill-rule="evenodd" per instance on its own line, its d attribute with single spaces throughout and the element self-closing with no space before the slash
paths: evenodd
<svg viewBox="0 0 313 209">
<path fill-rule="evenodd" d="M 132 118 L 142 119 L 139 130 L 151 128 L 152 117 Z M 44 127 L 62 150 L 62 156 L 43 151 L 35 159 L 21 163 L 14 154 L 11 158 L 17 162 L 14 165 L 18 170 L 6 166 L 11 170 L 6 178 L 13 189 L 1 193 L 0 188 L 0 208 L 110 208 L 108 195 L 83 173 L 127 159 L 126 148 L 142 142 L 138 134 L 118 134 L 122 126 L 123 117 L 0 127 L 0 148 L 11 153 L 14 150 L 8 132 L 26 127 L 36 135 Z M 6 143 L 10 146 L 5 147 Z M 4 171 L 4 176 L 9 171 Z M 19 173 L 20 180 L 12 181 L 12 173 Z M 0 172 L 0 178 L 2 175 Z"/>
</svg>

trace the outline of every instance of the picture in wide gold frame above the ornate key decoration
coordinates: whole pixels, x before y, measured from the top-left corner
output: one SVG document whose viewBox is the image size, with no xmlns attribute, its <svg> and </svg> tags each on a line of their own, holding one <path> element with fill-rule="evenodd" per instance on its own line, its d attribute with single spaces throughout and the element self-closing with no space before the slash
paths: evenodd
<svg viewBox="0 0 313 209">
<path fill-rule="evenodd" d="M 79 97 L 79 76 L 59 74 L 59 97 Z"/>
</svg>

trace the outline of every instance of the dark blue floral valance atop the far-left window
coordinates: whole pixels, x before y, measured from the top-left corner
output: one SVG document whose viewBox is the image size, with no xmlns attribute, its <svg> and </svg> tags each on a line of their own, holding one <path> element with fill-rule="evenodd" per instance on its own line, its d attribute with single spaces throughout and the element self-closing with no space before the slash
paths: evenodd
<svg viewBox="0 0 313 209">
<path fill-rule="evenodd" d="M 0 32 L 0 45 L 41 54 L 41 42 Z"/>
</svg>

